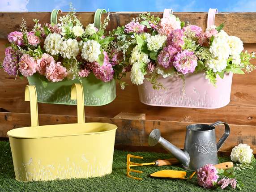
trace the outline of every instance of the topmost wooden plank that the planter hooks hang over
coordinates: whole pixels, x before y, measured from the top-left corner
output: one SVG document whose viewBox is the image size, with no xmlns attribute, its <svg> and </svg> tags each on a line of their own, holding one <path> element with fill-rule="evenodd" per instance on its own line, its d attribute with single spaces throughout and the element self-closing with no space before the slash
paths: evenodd
<svg viewBox="0 0 256 192">
<path fill-rule="evenodd" d="M 143 13 L 143 12 L 141 12 Z M 145 13 L 145 12 L 144 12 Z M 18 30 L 22 18 L 27 21 L 29 29 L 33 26 L 32 18 L 37 18 L 41 23 L 50 21 L 51 13 L 32 12 L 32 13 L 8 13 L 0 12 L 0 38 L 6 38 L 7 34 Z M 60 13 L 62 16 L 66 13 Z M 154 13 L 155 16 L 162 17 L 162 13 Z M 192 25 L 201 26 L 203 29 L 207 25 L 207 13 L 174 13 L 181 21 L 189 22 Z M 107 14 L 102 15 L 102 21 Z M 111 21 L 109 22 L 107 30 L 115 29 L 117 26 L 123 26 L 132 18 L 139 15 L 139 12 L 115 12 L 110 13 Z M 77 13 L 77 17 L 81 18 L 81 23 L 87 25 L 94 20 L 94 13 Z M 244 43 L 256 43 L 256 13 L 219 13 L 215 17 L 215 24 L 225 24 L 225 31 L 230 35 L 238 36 Z"/>
</svg>

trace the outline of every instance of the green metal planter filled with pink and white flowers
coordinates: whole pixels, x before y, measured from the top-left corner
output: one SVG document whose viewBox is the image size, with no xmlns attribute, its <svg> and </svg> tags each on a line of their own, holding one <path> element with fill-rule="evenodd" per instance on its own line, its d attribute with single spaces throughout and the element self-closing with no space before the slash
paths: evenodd
<svg viewBox="0 0 256 192">
<path fill-rule="evenodd" d="M 39 102 L 75 104 L 70 100 L 70 87 L 74 82 L 84 86 L 85 105 L 104 105 L 115 99 L 115 54 L 110 43 L 114 39 L 104 36 L 109 21 L 100 28 L 94 23 L 84 27 L 71 11 L 60 17 L 58 24 L 39 24 L 28 31 L 26 21 L 21 31 L 8 35 L 11 43 L 5 50 L 4 71 L 9 75 L 27 77 L 36 85 Z"/>
</svg>

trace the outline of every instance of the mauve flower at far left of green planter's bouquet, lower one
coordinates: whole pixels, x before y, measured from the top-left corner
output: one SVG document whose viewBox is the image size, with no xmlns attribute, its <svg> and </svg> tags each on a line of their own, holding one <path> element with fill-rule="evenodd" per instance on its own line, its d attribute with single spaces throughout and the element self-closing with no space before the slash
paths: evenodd
<svg viewBox="0 0 256 192">
<path fill-rule="evenodd" d="M 9 75 L 16 75 L 21 54 L 15 51 L 12 47 L 7 47 L 4 53 L 5 53 L 5 57 L 3 61 L 4 71 Z"/>
</svg>

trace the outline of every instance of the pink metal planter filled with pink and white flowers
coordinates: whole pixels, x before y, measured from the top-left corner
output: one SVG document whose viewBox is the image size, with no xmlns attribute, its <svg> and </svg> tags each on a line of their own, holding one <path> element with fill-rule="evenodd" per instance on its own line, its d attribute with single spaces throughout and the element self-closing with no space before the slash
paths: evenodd
<svg viewBox="0 0 256 192">
<path fill-rule="evenodd" d="M 203 31 L 174 15 L 160 19 L 148 13 L 111 35 L 116 50 L 123 51 L 122 63 L 131 69 L 132 83 L 139 85 L 141 102 L 218 108 L 230 101 L 232 73 L 255 69 L 250 63 L 255 53 L 242 52 L 243 42 L 222 28 Z"/>
</svg>

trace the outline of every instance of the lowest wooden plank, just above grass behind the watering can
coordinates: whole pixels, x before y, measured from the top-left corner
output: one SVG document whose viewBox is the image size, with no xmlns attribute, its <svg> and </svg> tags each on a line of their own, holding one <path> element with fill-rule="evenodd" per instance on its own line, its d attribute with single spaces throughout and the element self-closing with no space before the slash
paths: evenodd
<svg viewBox="0 0 256 192">
<path fill-rule="evenodd" d="M 76 123 L 76 116 L 69 115 L 39 115 L 40 125 Z M 102 117 L 85 117 L 85 122 L 105 122 L 118 126 L 116 145 L 148 146 L 148 136 L 151 130 L 158 128 L 162 137 L 183 148 L 186 126 L 191 122 L 130 120 Z M 6 132 L 13 128 L 30 126 L 30 114 L 0 112 L 0 137 L 7 137 Z M 256 153 L 256 126 L 230 124 L 230 137 L 222 146 L 221 151 L 230 151 L 239 143 L 247 143 Z M 224 127 L 216 128 L 216 137 L 223 134 Z M 218 140 L 217 139 L 217 140 Z M 157 149 L 157 148 L 156 148 Z"/>
</svg>

